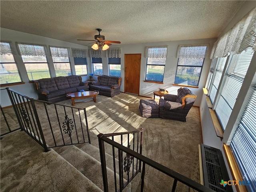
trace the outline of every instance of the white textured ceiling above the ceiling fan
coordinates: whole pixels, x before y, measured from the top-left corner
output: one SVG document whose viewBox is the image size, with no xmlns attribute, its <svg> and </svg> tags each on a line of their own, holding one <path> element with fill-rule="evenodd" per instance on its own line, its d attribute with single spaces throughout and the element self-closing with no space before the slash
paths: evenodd
<svg viewBox="0 0 256 192">
<path fill-rule="evenodd" d="M 244 1 L 0 1 L 0 26 L 88 45 L 216 38 Z"/>
</svg>

